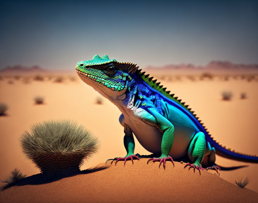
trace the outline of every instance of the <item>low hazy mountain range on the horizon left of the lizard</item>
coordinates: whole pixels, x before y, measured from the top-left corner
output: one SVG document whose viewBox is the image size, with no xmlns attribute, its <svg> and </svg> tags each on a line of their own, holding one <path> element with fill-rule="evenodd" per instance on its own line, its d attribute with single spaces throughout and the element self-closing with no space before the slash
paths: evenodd
<svg viewBox="0 0 258 203">
<path fill-rule="evenodd" d="M 7 65 L 0 72 L 45 72 L 46 70 L 38 65 L 22 66 L 22 65 Z"/>
</svg>

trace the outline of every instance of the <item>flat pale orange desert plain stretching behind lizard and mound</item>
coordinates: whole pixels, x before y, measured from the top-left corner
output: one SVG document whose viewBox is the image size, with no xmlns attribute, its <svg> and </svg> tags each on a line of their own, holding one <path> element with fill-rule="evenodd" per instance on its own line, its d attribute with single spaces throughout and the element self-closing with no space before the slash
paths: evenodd
<svg viewBox="0 0 258 203">
<path fill-rule="evenodd" d="M 196 77 L 196 81 L 191 81 L 186 77 L 156 75 L 164 87 L 190 105 L 189 107 L 202 119 L 216 140 L 227 148 L 258 155 L 258 82 L 256 80 L 247 82 L 246 79 L 242 80 L 238 77 L 225 81 L 223 77 L 215 77 L 213 80 L 200 81 Z M 77 78 L 76 73 L 71 76 Z M 0 80 L 0 103 L 8 105 L 6 116 L 0 116 L 1 179 L 15 167 L 29 176 L 39 173 L 39 170 L 24 158 L 18 138 L 24 130 L 30 128 L 32 123 L 48 119 L 76 120 L 100 138 L 100 152 L 86 161 L 82 170 L 96 166 L 109 158 L 126 155 L 123 145 L 124 132 L 118 122 L 120 112 L 117 107 L 102 98 L 79 78 L 71 81 L 69 79 L 71 76 L 65 76 L 66 79 L 62 83 L 54 83 L 54 78 L 43 82 L 31 79 L 28 84 L 24 84 L 22 78 L 12 79 L 14 84 L 9 84 L 10 79 L 7 78 Z M 155 76 L 155 73 L 152 73 L 152 76 Z M 233 92 L 231 101 L 221 99 L 223 90 Z M 240 99 L 241 92 L 246 93 L 246 99 Z M 44 104 L 35 105 L 33 101 L 35 96 L 45 97 Z M 96 104 L 98 98 L 103 102 L 102 105 Z M 135 153 L 150 154 L 136 139 L 135 142 Z M 258 164 L 232 161 L 219 156 L 216 163 L 225 167 L 248 165 L 238 170 L 221 171 L 220 177 L 234 183 L 238 178 L 249 176 L 250 184 L 247 188 L 258 192 Z M 146 167 L 149 166 L 146 165 Z M 173 177 L 172 174 L 171 170 L 171 177 Z"/>
</svg>

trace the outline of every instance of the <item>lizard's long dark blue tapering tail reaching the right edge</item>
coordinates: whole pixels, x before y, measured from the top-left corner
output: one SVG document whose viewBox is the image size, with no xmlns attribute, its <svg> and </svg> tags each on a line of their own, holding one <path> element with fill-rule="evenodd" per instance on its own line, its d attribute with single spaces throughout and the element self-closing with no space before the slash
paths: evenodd
<svg viewBox="0 0 258 203">
<path fill-rule="evenodd" d="M 222 146 L 219 144 L 219 142 L 216 142 L 216 140 L 213 140 L 213 138 L 208 134 L 206 135 L 207 141 L 210 142 L 210 145 L 215 148 L 216 154 L 225 157 L 228 159 L 233 159 L 236 161 L 244 161 L 244 162 L 251 162 L 251 163 L 258 163 L 258 156 L 256 155 L 248 155 L 241 152 L 236 152 L 235 150 L 226 149 L 225 146 Z"/>
</svg>

